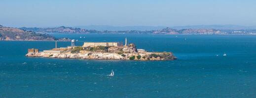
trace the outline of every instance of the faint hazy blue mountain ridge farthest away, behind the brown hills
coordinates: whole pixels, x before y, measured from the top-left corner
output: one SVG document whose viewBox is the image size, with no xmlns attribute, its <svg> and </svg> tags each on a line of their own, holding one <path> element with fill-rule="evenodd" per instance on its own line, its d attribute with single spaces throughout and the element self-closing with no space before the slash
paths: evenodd
<svg viewBox="0 0 256 98">
<path fill-rule="evenodd" d="M 87 26 L 73 26 L 83 29 L 93 30 L 159 30 L 166 27 L 173 29 L 219 29 L 219 30 L 240 30 L 240 29 L 256 29 L 256 26 L 242 26 L 242 25 L 187 25 L 187 26 L 110 26 L 110 25 L 87 25 Z"/>
</svg>

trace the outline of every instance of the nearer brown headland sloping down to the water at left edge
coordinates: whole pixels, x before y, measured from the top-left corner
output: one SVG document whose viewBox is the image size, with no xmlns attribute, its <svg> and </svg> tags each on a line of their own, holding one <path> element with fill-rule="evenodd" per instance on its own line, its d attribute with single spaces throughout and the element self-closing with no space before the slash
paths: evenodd
<svg viewBox="0 0 256 98">
<path fill-rule="evenodd" d="M 48 34 L 38 34 L 35 32 L 24 31 L 13 27 L 4 27 L 0 25 L 0 40 L 56 40 L 55 37 Z"/>
</svg>

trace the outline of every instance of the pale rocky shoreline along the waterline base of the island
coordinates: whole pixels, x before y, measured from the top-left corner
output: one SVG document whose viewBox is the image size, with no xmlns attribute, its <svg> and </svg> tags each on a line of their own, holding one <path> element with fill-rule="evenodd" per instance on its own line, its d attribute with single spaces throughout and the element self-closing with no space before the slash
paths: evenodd
<svg viewBox="0 0 256 98">
<path fill-rule="evenodd" d="M 102 59 L 102 60 L 174 60 L 177 59 L 171 52 L 137 52 L 137 53 L 45 53 L 35 52 L 26 54 L 28 57 L 47 57 L 65 59 Z"/>
</svg>

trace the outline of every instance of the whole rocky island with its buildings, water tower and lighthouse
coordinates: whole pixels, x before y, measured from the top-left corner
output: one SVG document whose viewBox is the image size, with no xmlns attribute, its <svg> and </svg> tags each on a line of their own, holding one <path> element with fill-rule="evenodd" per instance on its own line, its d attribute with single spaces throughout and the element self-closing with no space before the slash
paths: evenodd
<svg viewBox="0 0 256 98">
<path fill-rule="evenodd" d="M 83 46 L 75 46 L 75 40 L 67 48 L 57 48 L 39 51 L 29 49 L 28 57 L 71 58 L 71 59 L 104 59 L 104 60 L 174 60 L 172 52 L 148 52 L 137 49 L 135 44 L 119 42 L 85 42 Z"/>
</svg>

